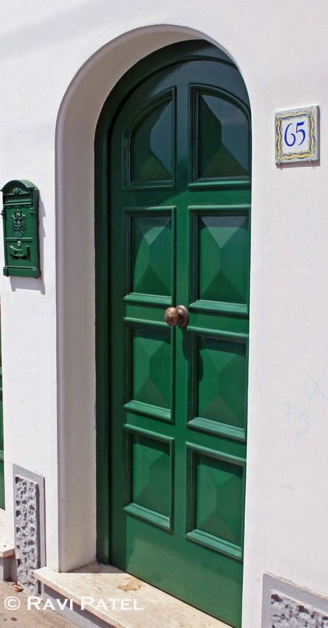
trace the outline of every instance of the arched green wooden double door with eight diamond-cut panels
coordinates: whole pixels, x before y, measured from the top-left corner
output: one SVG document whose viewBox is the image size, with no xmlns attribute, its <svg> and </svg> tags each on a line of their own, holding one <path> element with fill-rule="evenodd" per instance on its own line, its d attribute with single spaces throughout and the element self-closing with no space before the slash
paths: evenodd
<svg viewBox="0 0 328 628">
<path fill-rule="evenodd" d="M 198 51 L 142 80 L 109 134 L 109 558 L 237 627 L 250 112 L 237 68 Z M 178 304 L 184 329 L 164 321 Z"/>
</svg>

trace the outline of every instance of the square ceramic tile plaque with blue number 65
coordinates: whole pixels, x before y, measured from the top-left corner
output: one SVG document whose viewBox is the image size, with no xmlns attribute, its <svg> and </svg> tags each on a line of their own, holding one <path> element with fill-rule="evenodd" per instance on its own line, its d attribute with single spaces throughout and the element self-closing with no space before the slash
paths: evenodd
<svg viewBox="0 0 328 628">
<path fill-rule="evenodd" d="M 275 114 L 276 164 L 319 159 L 318 114 L 318 106 Z"/>
</svg>

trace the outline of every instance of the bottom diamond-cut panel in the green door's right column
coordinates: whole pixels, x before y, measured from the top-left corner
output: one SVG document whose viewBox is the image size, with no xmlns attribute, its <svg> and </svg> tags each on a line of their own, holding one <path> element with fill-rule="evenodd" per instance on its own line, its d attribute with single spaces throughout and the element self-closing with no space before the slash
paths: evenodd
<svg viewBox="0 0 328 628">
<path fill-rule="evenodd" d="M 190 482 L 188 538 L 242 557 L 244 461 L 212 450 L 188 451 Z"/>
</svg>

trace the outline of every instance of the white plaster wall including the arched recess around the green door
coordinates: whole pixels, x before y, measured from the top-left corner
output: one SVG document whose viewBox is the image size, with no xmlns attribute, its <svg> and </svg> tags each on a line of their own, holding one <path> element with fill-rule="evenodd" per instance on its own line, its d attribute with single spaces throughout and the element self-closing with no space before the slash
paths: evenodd
<svg viewBox="0 0 328 628">
<path fill-rule="evenodd" d="M 4 0 L 1 12 L 0 182 L 27 178 L 42 200 L 42 279 L 0 282 L 8 538 L 15 463 L 45 477 L 47 564 L 60 570 L 95 553 L 93 137 L 102 104 L 138 59 L 192 37 L 217 43 L 246 82 L 243 628 L 260 625 L 264 571 L 328 591 L 327 19 L 325 0 L 33 0 L 28 12 Z M 275 110 L 313 104 L 320 165 L 277 168 Z"/>
</svg>

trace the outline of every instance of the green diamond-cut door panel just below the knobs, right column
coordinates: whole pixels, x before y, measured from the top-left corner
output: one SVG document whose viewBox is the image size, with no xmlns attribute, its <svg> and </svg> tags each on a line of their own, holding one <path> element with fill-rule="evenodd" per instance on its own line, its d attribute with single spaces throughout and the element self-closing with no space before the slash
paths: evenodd
<svg viewBox="0 0 328 628">
<path fill-rule="evenodd" d="M 190 426 L 244 439 L 246 340 L 193 335 Z"/>
</svg>

